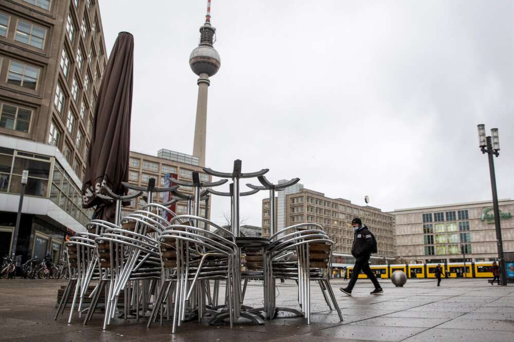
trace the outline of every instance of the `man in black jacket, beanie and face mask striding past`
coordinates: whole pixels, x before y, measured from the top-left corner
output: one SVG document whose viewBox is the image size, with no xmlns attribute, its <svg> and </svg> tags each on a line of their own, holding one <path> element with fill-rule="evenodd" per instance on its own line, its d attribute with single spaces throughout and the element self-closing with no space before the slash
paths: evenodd
<svg viewBox="0 0 514 342">
<path fill-rule="evenodd" d="M 348 286 L 344 289 L 341 287 L 339 290 L 348 296 L 351 296 L 353 287 L 355 286 L 359 273 L 362 270 L 362 272 L 371 279 L 373 285 L 375 285 L 375 290 L 370 294 L 380 295 L 383 293 L 382 287 L 380 287 L 380 284 L 378 283 L 375 274 L 371 271 L 369 264 L 371 253 L 374 253 L 374 249 L 376 248 L 373 236 L 368 227 L 363 225 L 359 218 L 353 219 L 352 226 L 355 232 L 354 242 L 352 245 L 352 255 L 355 257 L 355 266 L 352 271 L 352 278 L 350 279 L 350 282 L 348 282 Z"/>
</svg>

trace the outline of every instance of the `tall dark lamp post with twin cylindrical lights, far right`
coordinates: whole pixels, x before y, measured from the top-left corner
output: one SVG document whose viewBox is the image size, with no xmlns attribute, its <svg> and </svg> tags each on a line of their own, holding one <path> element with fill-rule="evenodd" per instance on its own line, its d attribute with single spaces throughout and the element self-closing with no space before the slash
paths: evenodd
<svg viewBox="0 0 514 342">
<path fill-rule="evenodd" d="M 498 259 L 500 260 L 500 273 L 502 278 L 502 285 L 507 285 L 507 269 L 505 268 L 505 259 L 503 258 L 503 241 L 502 230 L 500 226 L 500 208 L 498 206 L 498 193 L 496 190 L 496 175 L 494 173 L 494 160 L 492 156 L 500 155 L 500 138 L 498 129 L 491 129 L 491 136 L 486 136 L 485 125 L 478 125 L 480 150 L 483 154 L 487 153 L 489 158 L 489 174 L 491 176 L 491 190 L 492 190 L 492 206 L 494 211 L 494 226 L 496 228 L 496 239 L 498 244 Z"/>
</svg>

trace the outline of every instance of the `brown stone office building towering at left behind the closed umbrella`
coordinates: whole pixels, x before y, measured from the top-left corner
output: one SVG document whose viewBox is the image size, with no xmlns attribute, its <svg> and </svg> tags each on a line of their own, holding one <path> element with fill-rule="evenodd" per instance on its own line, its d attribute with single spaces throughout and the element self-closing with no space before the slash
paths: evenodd
<svg viewBox="0 0 514 342">
<path fill-rule="evenodd" d="M 95 0 L 0 2 L 0 254 L 29 170 L 16 255 L 60 255 L 91 210 L 80 189 L 107 56 Z"/>
</svg>

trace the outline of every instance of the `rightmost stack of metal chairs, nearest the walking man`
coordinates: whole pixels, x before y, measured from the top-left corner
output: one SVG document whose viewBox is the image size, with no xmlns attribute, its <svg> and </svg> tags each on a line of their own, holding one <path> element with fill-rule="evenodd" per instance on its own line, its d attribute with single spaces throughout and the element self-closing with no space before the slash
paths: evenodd
<svg viewBox="0 0 514 342">
<path fill-rule="evenodd" d="M 276 315 L 274 281 L 276 278 L 298 281 L 298 301 L 310 324 L 310 281 L 317 281 L 330 310 L 332 307 L 325 293 L 332 299 L 341 321 L 343 317 L 329 283 L 331 241 L 321 225 L 303 223 L 289 226 L 270 237 L 271 245 L 265 258 L 266 312 L 269 318 Z M 288 260 L 296 256 L 296 260 Z"/>
</svg>

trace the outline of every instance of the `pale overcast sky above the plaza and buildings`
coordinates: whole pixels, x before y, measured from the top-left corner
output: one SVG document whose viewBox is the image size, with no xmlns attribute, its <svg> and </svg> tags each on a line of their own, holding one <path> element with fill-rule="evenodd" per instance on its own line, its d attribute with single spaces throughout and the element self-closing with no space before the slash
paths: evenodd
<svg viewBox="0 0 514 342">
<path fill-rule="evenodd" d="M 100 2 L 108 51 L 119 31 L 134 34 L 132 150 L 192 153 L 188 61 L 206 3 Z M 300 177 L 360 205 L 369 195 L 384 211 L 490 200 L 484 123 L 500 130 L 499 197 L 514 197 L 513 7 L 212 0 L 222 63 L 209 87 L 207 166 L 228 172 L 241 159 L 243 172 L 269 168 L 274 183 Z M 261 225 L 266 196 L 242 199 L 247 224 Z M 229 201 L 217 197 L 211 218 L 222 211 Z"/>
</svg>

